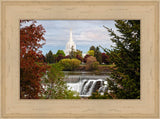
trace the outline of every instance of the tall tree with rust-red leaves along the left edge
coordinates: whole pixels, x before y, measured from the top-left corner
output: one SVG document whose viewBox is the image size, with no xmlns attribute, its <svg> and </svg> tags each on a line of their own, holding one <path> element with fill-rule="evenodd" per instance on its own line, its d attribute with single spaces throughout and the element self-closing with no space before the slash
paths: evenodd
<svg viewBox="0 0 160 119">
<path fill-rule="evenodd" d="M 45 41 L 45 29 L 42 25 L 36 26 L 36 21 L 22 27 L 26 22 L 29 21 L 20 21 L 20 98 L 37 99 L 42 93 L 41 77 L 48 68 L 39 50 Z"/>
</svg>

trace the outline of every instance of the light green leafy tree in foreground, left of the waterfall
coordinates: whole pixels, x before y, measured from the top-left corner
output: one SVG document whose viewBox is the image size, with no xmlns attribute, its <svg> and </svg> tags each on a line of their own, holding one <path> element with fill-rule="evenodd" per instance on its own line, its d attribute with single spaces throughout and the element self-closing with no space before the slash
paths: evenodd
<svg viewBox="0 0 160 119">
<path fill-rule="evenodd" d="M 45 87 L 43 98 L 45 99 L 77 99 L 77 92 L 68 90 L 64 79 L 63 67 L 59 64 L 52 64 L 44 78 L 42 85 Z"/>
</svg>

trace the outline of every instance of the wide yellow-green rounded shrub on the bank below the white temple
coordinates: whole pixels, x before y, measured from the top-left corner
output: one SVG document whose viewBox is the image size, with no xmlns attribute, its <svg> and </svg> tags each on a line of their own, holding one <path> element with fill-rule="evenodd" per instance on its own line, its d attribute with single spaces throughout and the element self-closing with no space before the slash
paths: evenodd
<svg viewBox="0 0 160 119">
<path fill-rule="evenodd" d="M 73 71 L 79 67 L 81 61 L 78 59 L 62 59 L 59 63 L 63 66 L 63 70 Z"/>
</svg>

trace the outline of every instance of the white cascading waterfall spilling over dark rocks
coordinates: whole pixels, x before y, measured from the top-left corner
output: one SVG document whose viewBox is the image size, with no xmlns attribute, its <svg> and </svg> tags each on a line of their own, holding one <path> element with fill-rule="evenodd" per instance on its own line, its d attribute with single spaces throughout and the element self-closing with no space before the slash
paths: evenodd
<svg viewBox="0 0 160 119">
<path fill-rule="evenodd" d="M 107 81 L 104 79 L 83 79 L 77 83 L 67 83 L 68 88 L 77 91 L 80 97 L 89 97 L 93 92 L 104 93 L 107 89 Z"/>
</svg>

